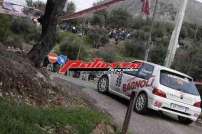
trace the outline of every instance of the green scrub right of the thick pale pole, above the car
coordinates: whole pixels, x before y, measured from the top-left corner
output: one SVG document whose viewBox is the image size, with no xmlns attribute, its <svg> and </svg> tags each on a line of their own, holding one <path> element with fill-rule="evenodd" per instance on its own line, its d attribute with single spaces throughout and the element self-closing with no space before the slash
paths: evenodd
<svg viewBox="0 0 202 134">
<path fill-rule="evenodd" d="M 189 74 L 196 80 L 202 79 L 202 28 L 183 24 L 178 48 L 172 67 Z"/>
</svg>

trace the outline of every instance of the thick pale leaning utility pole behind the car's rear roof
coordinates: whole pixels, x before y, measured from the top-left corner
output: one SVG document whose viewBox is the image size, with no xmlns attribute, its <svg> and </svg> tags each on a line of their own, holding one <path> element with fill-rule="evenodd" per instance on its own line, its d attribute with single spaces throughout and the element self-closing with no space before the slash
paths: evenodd
<svg viewBox="0 0 202 134">
<path fill-rule="evenodd" d="M 172 62 L 174 61 L 174 58 L 175 58 L 175 54 L 178 47 L 178 39 L 179 39 L 180 31 L 182 28 L 184 16 L 185 16 L 187 3 L 188 3 L 188 0 L 184 0 L 176 18 L 176 25 L 170 39 L 170 43 L 169 43 L 169 47 L 168 47 L 168 51 L 165 59 L 166 67 L 171 67 Z"/>
</svg>

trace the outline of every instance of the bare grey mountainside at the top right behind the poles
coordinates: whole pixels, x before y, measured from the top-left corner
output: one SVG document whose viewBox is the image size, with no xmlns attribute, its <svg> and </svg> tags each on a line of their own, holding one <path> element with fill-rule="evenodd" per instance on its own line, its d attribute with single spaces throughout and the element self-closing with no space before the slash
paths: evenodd
<svg viewBox="0 0 202 134">
<path fill-rule="evenodd" d="M 109 1 L 109 0 L 105 0 Z M 149 0 L 151 12 L 153 12 L 155 0 Z M 175 16 L 182 4 L 183 0 L 159 0 L 157 8 L 158 21 L 174 22 Z M 109 10 L 123 8 L 129 11 L 133 16 L 141 15 L 142 2 L 141 0 L 125 0 L 113 5 Z M 202 3 L 197 0 L 188 0 L 188 6 L 185 15 L 185 21 L 193 24 L 202 24 Z"/>
</svg>

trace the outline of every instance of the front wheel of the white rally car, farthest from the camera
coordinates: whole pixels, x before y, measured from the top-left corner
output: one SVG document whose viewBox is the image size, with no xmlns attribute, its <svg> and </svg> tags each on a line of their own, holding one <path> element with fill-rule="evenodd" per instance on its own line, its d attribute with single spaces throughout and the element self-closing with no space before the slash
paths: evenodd
<svg viewBox="0 0 202 134">
<path fill-rule="evenodd" d="M 97 89 L 100 93 L 107 93 L 109 90 L 109 80 L 106 76 L 102 76 L 97 83 Z"/>
</svg>

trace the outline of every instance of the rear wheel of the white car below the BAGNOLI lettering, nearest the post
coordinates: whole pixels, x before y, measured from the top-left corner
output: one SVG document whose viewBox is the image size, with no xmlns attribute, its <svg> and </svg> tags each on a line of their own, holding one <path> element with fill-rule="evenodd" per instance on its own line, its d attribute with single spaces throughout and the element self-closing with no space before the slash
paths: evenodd
<svg viewBox="0 0 202 134">
<path fill-rule="evenodd" d="M 142 101 L 142 102 L 141 102 Z M 146 93 L 140 93 L 135 99 L 134 110 L 139 114 L 148 112 L 148 97 Z"/>
</svg>

